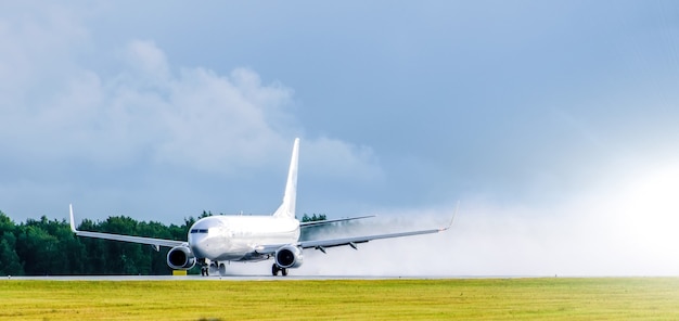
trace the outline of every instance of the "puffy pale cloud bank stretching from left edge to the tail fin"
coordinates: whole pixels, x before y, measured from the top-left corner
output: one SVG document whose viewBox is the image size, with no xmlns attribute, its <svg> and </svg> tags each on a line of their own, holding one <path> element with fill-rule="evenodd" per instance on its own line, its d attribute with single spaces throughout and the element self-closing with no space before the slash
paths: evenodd
<svg viewBox="0 0 679 321">
<path fill-rule="evenodd" d="M 116 54 L 121 69 L 105 75 L 79 65 L 66 50 L 86 40 L 81 34 L 87 33 L 73 31 L 82 30 L 77 20 L 65 26 L 63 21 L 2 22 L 3 43 L 30 38 L 0 59 L 4 91 L 24 93 L 2 106 L 9 124 L 0 129 L 7 138 L 2 144 L 17 157 L 78 158 L 102 166 L 148 157 L 234 172 L 270 164 L 269 155 L 286 153 L 302 131 L 291 111 L 293 91 L 277 81 L 262 84 L 254 70 L 219 75 L 204 67 L 175 67 L 153 41 L 134 39 Z M 54 38 L 62 40 L 48 41 Z M 34 67 L 48 64 L 61 67 L 47 76 Z M 11 75 L 31 76 L 15 86 Z M 313 146 L 309 155 L 316 155 L 311 158 L 343 160 L 337 164 L 345 174 L 350 168 L 358 168 L 357 175 L 379 171 L 367 147 L 326 138 L 308 142 Z"/>
</svg>

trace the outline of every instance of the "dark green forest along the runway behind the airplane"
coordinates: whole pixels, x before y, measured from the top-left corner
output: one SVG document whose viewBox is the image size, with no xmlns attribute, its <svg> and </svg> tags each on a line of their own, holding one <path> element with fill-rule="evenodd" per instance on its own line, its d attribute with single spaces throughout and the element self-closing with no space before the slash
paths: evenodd
<svg viewBox="0 0 679 321">
<path fill-rule="evenodd" d="M 203 211 L 198 217 L 210 216 Z M 324 215 L 306 214 L 303 221 L 323 220 Z M 137 221 L 126 216 L 112 216 L 104 221 L 84 220 L 84 231 L 138 235 L 187 241 L 195 218 L 184 218 L 181 226 L 154 221 Z M 310 232 L 310 231 L 305 231 Z M 306 237 L 303 234 L 302 237 Z M 27 219 L 15 223 L 0 210 L 0 275 L 105 275 L 170 274 L 166 264 L 169 248 L 156 252 L 151 245 L 76 236 L 65 219 Z M 189 273 L 200 273 L 194 267 Z"/>
</svg>

